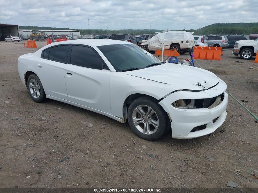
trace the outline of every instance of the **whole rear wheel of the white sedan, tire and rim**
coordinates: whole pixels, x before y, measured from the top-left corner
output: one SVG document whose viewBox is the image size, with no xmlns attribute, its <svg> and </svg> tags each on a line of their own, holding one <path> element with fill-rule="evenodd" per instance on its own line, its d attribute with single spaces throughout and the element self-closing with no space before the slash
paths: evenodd
<svg viewBox="0 0 258 193">
<path fill-rule="evenodd" d="M 46 99 L 44 88 L 36 74 L 31 74 L 27 80 L 27 87 L 31 98 L 35 102 L 43 102 Z"/>
</svg>

